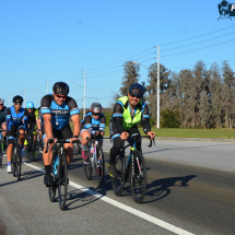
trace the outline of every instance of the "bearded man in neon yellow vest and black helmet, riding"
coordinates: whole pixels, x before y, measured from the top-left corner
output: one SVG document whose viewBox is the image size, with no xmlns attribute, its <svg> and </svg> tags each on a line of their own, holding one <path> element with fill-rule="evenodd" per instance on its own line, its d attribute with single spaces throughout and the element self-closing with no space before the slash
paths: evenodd
<svg viewBox="0 0 235 235">
<path fill-rule="evenodd" d="M 143 131 L 151 140 L 155 133 L 151 131 L 149 107 L 142 101 L 145 89 L 139 84 L 131 84 L 127 96 L 120 97 L 114 106 L 114 114 L 110 120 L 110 134 L 114 142 L 110 149 L 108 171 L 111 177 L 116 174 L 116 156 L 118 155 L 125 140 L 133 133 L 140 133 L 137 125 L 141 121 Z M 136 141 L 137 150 L 141 151 L 141 139 Z M 141 151 L 142 152 L 142 151 Z"/>
</svg>

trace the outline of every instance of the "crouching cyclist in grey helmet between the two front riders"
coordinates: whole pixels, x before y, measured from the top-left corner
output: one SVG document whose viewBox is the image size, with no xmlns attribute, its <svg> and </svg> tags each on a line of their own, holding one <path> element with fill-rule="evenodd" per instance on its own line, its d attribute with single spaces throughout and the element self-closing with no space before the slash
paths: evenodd
<svg viewBox="0 0 235 235">
<path fill-rule="evenodd" d="M 91 138 L 91 134 L 96 136 L 97 139 L 102 139 L 105 131 L 106 118 L 102 113 L 102 105 L 99 103 L 93 103 L 91 105 L 90 111 L 85 115 L 84 119 L 81 121 L 80 134 L 82 139 Z M 89 143 L 89 142 L 87 142 Z M 82 158 L 84 164 L 87 164 L 87 143 L 82 146 Z M 98 144 L 103 145 L 103 140 L 98 141 Z M 101 158 L 101 156 L 99 156 Z"/>
</svg>

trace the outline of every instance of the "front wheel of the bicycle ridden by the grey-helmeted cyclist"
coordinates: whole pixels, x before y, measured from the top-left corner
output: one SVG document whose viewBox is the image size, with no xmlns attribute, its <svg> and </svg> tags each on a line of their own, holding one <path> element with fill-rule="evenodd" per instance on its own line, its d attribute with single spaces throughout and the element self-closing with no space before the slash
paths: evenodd
<svg viewBox="0 0 235 235">
<path fill-rule="evenodd" d="M 97 154 L 98 153 L 98 154 Z M 101 156 L 101 161 L 98 162 L 98 156 Z M 98 185 L 102 185 L 104 181 L 105 175 L 105 158 L 103 154 L 103 150 L 99 145 L 96 145 L 96 165 L 95 165 L 95 173 L 98 180 Z"/>
</svg>

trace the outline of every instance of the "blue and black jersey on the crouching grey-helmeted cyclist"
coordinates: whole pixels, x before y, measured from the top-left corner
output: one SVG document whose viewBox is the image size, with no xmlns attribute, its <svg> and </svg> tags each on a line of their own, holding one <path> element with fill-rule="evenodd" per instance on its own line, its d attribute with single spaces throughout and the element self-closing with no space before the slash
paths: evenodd
<svg viewBox="0 0 235 235">
<path fill-rule="evenodd" d="M 105 124 L 106 124 L 106 117 L 103 113 L 101 113 L 101 116 L 98 119 L 95 119 L 92 115 L 92 111 L 89 111 L 84 119 L 81 121 L 81 131 L 84 129 L 87 129 L 91 133 L 94 131 L 105 130 Z"/>
</svg>

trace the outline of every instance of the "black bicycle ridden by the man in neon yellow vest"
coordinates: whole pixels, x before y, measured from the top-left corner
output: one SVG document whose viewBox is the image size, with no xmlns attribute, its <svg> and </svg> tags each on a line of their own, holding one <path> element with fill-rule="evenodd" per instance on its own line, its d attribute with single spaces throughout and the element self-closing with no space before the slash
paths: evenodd
<svg viewBox="0 0 235 235">
<path fill-rule="evenodd" d="M 119 197 L 124 191 L 125 183 L 129 176 L 131 195 L 137 203 L 143 201 L 148 181 L 145 161 L 142 153 L 136 148 L 136 140 L 139 138 L 149 137 L 141 137 L 139 133 L 134 133 L 128 139 L 129 143 L 121 148 L 119 155 L 116 157 L 117 177 L 111 178 L 113 190 Z M 154 140 L 153 142 L 155 145 Z M 126 164 L 125 150 L 128 146 L 131 146 L 131 149 Z M 150 140 L 150 145 L 148 146 L 152 146 L 152 140 Z"/>
</svg>

